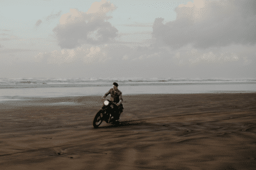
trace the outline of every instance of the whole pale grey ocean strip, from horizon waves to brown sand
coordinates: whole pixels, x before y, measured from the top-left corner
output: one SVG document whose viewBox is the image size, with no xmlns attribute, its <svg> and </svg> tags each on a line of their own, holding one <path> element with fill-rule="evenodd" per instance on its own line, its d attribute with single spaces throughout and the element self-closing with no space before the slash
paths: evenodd
<svg viewBox="0 0 256 170">
<path fill-rule="evenodd" d="M 113 82 L 123 95 L 256 92 L 256 79 L 21 78 L 0 79 L 0 102 L 26 98 L 103 96 Z"/>
</svg>

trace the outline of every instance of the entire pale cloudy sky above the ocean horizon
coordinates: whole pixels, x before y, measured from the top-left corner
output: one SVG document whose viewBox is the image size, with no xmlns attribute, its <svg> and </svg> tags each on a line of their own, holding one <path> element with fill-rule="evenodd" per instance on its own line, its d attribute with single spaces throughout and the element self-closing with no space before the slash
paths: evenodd
<svg viewBox="0 0 256 170">
<path fill-rule="evenodd" d="M 0 78 L 256 78 L 254 0 L 0 3 Z"/>
</svg>

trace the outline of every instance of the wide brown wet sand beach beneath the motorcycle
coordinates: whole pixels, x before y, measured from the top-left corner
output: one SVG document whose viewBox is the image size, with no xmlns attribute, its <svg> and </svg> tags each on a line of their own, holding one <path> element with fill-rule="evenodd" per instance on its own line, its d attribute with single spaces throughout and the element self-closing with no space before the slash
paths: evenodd
<svg viewBox="0 0 256 170">
<path fill-rule="evenodd" d="M 255 93 L 123 98 L 99 129 L 99 96 L 0 103 L 0 169 L 256 168 Z"/>
</svg>

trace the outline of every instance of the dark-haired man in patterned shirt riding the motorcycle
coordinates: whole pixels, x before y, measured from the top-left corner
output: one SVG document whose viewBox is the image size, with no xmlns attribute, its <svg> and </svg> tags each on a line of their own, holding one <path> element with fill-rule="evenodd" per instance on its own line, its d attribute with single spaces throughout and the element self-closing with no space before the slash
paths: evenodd
<svg viewBox="0 0 256 170">
<path fill-rule="evenodd" d="M 102 99 L 105 99 L 109 94 L 110 94 L 110 100 L 113 101 L 118 107 L 117 113 L 114 113 L 115 115 L 113 115 L 115 120 L 118 121 L 119 116 L 123 112 L 124 107 L 122 104 L 123 103 L 122 92 L 118 90 L 118 84 L 116 82 L 113 83 L 113 88 L 108 90 L 108 92 L 102 97 Z"/>
</svg>

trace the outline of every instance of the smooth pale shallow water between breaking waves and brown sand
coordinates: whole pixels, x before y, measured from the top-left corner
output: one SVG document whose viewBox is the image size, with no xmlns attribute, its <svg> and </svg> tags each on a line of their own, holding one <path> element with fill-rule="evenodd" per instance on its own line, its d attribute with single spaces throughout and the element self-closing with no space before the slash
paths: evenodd
<svg viewBox="0 0 256 170">
<path fill-rule="evenodd" d="M 31 98 L 51 98 L 51 97 L 82 97 L 100 96 L 105 94 L 110 87 L 53 87 L 53 88 L 14 88 L 1 89 L 0 103 L 6 100 L 15 101 Z M 146 95 L 146 94 L 223 94 L 223 93 L 247 93 L 256 92 L 256 83 L 234 83 L 234 84 L 182 84 L 163 86 L 159 84 L 150 86 L 121 86 L 119 88 L 123 95 Z"/>
</svg>

